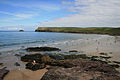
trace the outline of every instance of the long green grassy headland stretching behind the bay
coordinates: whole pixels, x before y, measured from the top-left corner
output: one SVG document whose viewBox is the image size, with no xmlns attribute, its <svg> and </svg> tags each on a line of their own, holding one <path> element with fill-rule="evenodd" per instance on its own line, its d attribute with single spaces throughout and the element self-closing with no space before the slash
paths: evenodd
<svg viewBox="0 0 120 80">
<path fill-rule="evenodd" d="M 38 27 L 36 32 L 64 32 L 64 33 L 84 33 L 84 34 L 109 34 L 120 35 L 120 28 L 111 27 Z"/>
</svg>

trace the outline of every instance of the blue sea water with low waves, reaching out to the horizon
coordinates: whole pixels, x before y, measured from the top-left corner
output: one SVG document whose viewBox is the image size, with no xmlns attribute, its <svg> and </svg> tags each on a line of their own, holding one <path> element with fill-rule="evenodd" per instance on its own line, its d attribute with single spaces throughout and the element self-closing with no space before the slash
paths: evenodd
<svg viewBox="0 0 120 80">
<path fill-rule="evenodd" d="M 55 32 L 0 32 L 0 53 L 15 52 L 31 46 L 47 46 L 58 42 L 97 38 L 96 34 L 74 34 Z"/>
</svg>

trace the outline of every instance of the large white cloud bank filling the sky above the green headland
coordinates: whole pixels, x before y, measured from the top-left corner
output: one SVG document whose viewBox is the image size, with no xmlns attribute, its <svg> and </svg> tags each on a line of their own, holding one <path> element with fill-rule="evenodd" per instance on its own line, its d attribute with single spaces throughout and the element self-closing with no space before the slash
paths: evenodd
<svg viewBox="0 0 120 80">
<path fill-rule="evenodd" d="M 43 22 L 40 26 L 120 26 L 120 0 L 74 0 L 65 4 L 77 14 Z"/>
</svg>

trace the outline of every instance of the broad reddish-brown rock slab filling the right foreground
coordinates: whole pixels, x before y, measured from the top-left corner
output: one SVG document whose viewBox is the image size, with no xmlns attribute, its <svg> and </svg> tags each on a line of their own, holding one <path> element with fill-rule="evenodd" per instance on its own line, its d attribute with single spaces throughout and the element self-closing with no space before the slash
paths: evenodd
<svg viewBox="0 0 120 80">
<path fill-rule="evenodd" d="M 71 68 L 60 67 L 67 63 Z M 85 59 L 70 59 L 59 62 L 41 80 L 120 80 L 119 72 L 109 64 Z"/>
</svg>

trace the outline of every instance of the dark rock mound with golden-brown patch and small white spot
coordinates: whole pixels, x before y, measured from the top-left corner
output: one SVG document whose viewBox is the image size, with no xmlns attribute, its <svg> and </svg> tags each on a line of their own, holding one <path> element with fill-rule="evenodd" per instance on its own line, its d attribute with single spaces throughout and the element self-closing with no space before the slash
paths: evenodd
<svg viewBox="0 0 120 80">
<path fill-rule="evenodd" d="M 22 56 L 21 60 L 24 62 L 28 62 L 26 64 L 26 69 L 36 71 L 45 68 L 46 64 L 49 64 L 51 59 L 47 55 L 36 53 L 36 54 Z"/>
</svg>

